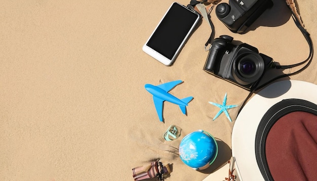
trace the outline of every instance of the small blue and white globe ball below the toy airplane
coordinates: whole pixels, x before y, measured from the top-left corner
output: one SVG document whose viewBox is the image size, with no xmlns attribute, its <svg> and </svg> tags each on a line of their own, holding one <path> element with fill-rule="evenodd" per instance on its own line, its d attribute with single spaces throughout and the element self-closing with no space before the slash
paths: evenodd
<svg viewBox="0 0 317 181">
<path fill-rule="evenodd" d="M 179 145 L 180 159 L 193 169 L 205 169 L 218 154 L 215 138 L 204 130 L 187 134 Z"/>
</svg>

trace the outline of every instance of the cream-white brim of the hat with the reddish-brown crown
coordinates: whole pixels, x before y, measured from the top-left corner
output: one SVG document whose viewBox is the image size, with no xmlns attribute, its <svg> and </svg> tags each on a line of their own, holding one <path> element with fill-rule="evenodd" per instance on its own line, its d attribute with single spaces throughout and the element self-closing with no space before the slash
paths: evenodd
<svg viewBox="0 0 317 181">
<path fill-rule="evenodd" d="M 269 108 L 285 99 L 317 104 L 317 85 L 298 80 L 272 83 L 257 93 L 237 116 L 232 130 L 232 156 L 240 180 L 264 180 L 255 153 L 256 131 Z"/>
</svg>

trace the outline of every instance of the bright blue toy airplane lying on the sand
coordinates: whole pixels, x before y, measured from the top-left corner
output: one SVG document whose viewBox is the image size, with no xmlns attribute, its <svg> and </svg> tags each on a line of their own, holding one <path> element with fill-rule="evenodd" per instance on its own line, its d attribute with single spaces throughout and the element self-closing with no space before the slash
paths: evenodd
<svg viewBox="0 0 317 181">
<path fill-rule="evenodd" d="M 174 104 L 177 104 L 179 108 L 182 110 L 183 114 L 186 114 L 186 106 L 188 105 L 193 97 L 187 97 L 184 99 L 178 99 L 175 96 L 168 93 L 171 91 L 172 88 L 174 88 L 176 85 L 182 83 L 182 80 L 175 80 L 172 82 L 163 83 L 161 85 L 151 85 L 151 84 L 145 84 L 145 89 L 149 93 L 153 95 L 153 101 L 155 105 L 155 109 L 157 112 L 157 115 L 160 118 L 160 121 L 163 121 L 163 102 L 168 101 Z"/>
</svg>

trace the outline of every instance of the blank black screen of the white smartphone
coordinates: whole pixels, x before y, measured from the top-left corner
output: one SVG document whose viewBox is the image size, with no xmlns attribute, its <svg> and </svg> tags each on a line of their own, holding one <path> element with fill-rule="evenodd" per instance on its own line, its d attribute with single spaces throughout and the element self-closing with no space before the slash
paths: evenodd
<svg viewBox="0 0 317 181">
<path fill-rule="evenodd" d="M 171 60 L 197 16 L 185 7 L 173 3 L 146 45 Z"/>
</svg>

